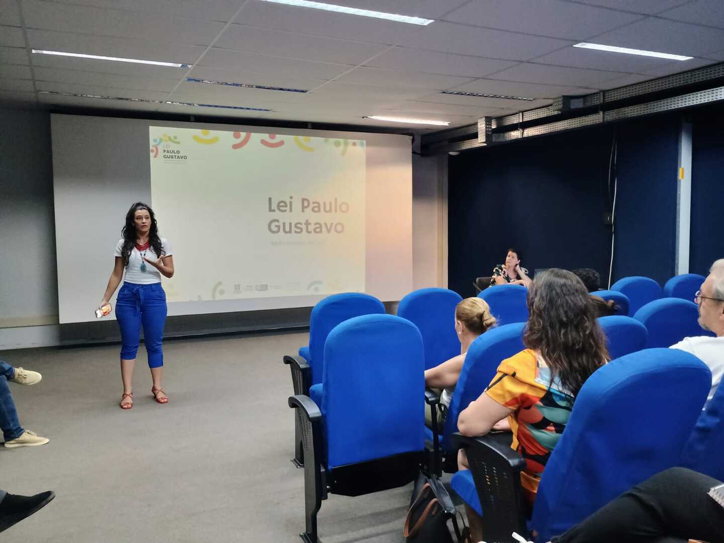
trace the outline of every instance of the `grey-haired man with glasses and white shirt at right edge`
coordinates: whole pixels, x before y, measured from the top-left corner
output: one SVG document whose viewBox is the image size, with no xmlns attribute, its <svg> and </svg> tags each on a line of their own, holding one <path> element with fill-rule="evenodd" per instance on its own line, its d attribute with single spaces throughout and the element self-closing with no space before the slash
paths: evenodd
<svg viewBox="0 0 724 543">
<path fill-rule="evenodd" d="M 709 277 L 702 283 L 701 290 L 696 292 L 694 301 L 699 306 L 699 326 L 714 332 L 716 337 L 685 337 L 676 345 L 671 345 L 671 348 L 686 350 L 709 366 L 712 371 L 712 389 L 707 397 L 708 404 L 724 374 L 724 258 L 712 264 Z"/>
</svg>

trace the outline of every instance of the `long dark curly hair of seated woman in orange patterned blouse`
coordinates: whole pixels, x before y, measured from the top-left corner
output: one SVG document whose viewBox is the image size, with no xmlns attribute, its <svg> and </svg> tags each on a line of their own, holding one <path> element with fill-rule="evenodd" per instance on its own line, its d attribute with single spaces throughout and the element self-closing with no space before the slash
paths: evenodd
<svg viewBox="0 0 724 543">
<path fill-rule="evenodd" d="M 544 271 L 528 291 L 530 313 L 523 343 L 538 351 L 576 397 L 589 376 L 608 361 L 606 337 L 584 283 L 571 271 Z"/>
</svg>

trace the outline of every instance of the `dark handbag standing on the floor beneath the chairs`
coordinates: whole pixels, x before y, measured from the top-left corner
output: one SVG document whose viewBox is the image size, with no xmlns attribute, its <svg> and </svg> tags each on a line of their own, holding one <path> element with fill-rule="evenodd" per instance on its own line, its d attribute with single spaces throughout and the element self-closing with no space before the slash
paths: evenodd
<svg viewBox="0 0 724 543">
<path fill-rule="evenodd" d="M 405 518 L 405 541 L 453 543 L 450 529 L 447 527 L 447 521 L 452 520 L 458 542 L 463 542 L 455 518 L 456 512 L 450 494 L 439 479 L 421 471 L 415 481 L 410 510 Z"/>
</svg>

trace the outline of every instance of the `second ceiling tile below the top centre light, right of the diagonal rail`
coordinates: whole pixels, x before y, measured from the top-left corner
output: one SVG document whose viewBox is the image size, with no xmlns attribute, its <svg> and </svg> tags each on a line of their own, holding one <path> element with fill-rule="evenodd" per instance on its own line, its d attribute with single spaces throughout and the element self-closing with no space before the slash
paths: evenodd
<svg viewBox="0 0 724 543">
<path fill-rule="evenodd" d="M 283 30 L 231 25 L 224 31 L 219 41 L 214 43 L 214 47 L 293 59 L 361 64 L 381 53 L 388 46 L 379 43 L 340 40 L 339 38 L 321 38 Z"/>
</svg>

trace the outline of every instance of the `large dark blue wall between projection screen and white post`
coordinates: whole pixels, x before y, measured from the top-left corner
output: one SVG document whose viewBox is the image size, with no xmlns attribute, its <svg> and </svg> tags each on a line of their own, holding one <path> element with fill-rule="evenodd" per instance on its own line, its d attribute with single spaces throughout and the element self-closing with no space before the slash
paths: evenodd
<svg viewBox="0 0 724 543">
<path fill-rule="evenodd" d="M 618 138 L 613 280 L 647 275 L 665 282 L 675 252 L 678 116 L 592 127 L 450 157 L 448 277 L 473 293 L 509 246 L 523 266 L 592 267 L 608 277 L 611 231 L 607 173 Z"/>
</svg>

